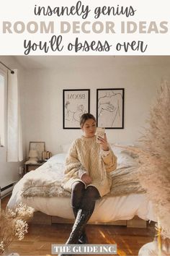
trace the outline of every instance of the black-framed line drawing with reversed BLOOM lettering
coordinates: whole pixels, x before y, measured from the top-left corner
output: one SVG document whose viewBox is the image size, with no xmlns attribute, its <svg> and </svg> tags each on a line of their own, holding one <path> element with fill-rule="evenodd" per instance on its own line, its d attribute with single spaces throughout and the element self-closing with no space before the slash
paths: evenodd
<svg viewBox="0 0 170 256">
<path fill-rule="evenodd" d="M 89 89 L 63 90 L 63 129 L 80 129 L 80 116 L 89 112 Z"/>
</svg>

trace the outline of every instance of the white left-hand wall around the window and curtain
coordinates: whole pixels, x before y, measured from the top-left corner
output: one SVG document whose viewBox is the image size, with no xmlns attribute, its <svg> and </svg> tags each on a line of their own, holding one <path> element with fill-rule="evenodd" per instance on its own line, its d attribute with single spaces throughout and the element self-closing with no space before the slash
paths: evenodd
<svg viewBox="0 0 170 256">
<path fill-rule="evenodd" d="M 19 69 L 19 88 L 20 88 L 20 98 L 21 105 L 23 104 L 22 98 L 22 88 L 24 85 L 24 70 L 22 67 L 14 60 L 13 57 L 10 56 L 0 56 L 0 61 L 4 62 L 11 69 Z M 22 120 L 24 118 L 23 108 L 21 108 L 22 112 Z M 24 125 L 24 121 L 22 124 Z M 25 135 L 24 135 L 24 127 L 23 128 L 23 148 L 24 148 L 24 157 L 25 157 Z M 10 182 L 14 182 L 19 179 L 19 166 L 22 166 L 22 163 L 7 163 L 6 162 L 6 145 L 3 148 L 0 148 L 0 186 L 5 187 Z"/>
</svg>

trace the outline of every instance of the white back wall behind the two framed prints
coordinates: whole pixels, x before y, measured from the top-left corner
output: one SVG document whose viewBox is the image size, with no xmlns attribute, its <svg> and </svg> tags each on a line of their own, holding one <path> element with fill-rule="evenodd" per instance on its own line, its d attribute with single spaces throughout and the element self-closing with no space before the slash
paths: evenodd
<svg viewBox="0 0 170 256">
<path fill-rule="evenodd" d="M 71 57 L 73 58 L 73 57 Z M 88 59 L 89 58 L 89 65 Z M 107 129 L 110 142 L 136 143 L 146 126 L 149 108 L 162 77 L 170 67 L 161 64 L 126 64 L 109 61 L 49 69 L 30 69 L 25 74 L 25 132 L 27 150 L 30 141 L 45 141 L 46 150 L 58 153 L 60 146 L 81 135 L 81 130 L 63 129 L 63 89 L 90 89 L 91 114 L 96 115 L 97 88 L 125 88 L 125 129 Z M 128 58 L 128 56 L 127 56 Z M 132 58 L 132 57 L 131 57 Z M 145 57 L 141 57 L 145 58 Z M 76 57 L 74 59 L 76 62 Z M 99 61 L 99 59 L 97 59 Z M 76 68 L 75 68 L 76 67 Z"/>
</svg>

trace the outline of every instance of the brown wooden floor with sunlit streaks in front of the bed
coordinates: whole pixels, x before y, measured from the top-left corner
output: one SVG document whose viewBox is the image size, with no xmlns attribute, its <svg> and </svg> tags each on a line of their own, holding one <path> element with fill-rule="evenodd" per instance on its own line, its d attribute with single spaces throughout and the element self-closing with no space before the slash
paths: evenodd
<svg viewBox="0 0 170 256">
<path fill-rule="evenodd" d="M 6 200 L 2 201 L 2 208 Z M 17 239 L 10 244 L 4 255 L 17 252 L 19 255 L 51 255 L 51 244 L 64 244 L 71 231 L 71 224 L 38 225 L 29 224 L 24 240 Z M 90 244 L 117 244 L 117 255 L 138 255 L 143 244 L 152 242 L 155 229 L 153 223 L 146 229 L 125 226 L 87 225 L 86 233 Z"/>
</svg>

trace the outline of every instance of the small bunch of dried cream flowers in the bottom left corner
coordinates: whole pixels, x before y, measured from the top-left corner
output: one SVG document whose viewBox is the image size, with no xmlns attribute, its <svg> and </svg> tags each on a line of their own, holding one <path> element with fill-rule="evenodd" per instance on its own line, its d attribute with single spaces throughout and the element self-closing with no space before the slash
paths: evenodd
<svg viewBox="0 0 170 256">
<path fill-rule="evenodd" d="M 9 247 L 12 240 L 22 240 L 27 233 L 27 220 L 32 218 L 34 209 L 20 203 L 14 210 L 2 210 L 0 213 L 0 255 Z"/>
</svg>

